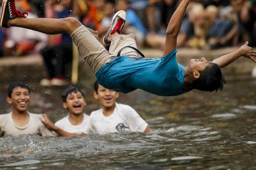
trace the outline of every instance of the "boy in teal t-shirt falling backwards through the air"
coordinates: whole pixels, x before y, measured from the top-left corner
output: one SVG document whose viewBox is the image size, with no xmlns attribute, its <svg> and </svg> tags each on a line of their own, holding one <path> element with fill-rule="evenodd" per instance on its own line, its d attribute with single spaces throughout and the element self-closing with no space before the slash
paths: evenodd
<svg viewBox="0 0 256 170">
<path fill-rule="evenodd" d="M 256 62 L 256 52 L 246 42 L 240 49 L 212 62 L 203 57 L 191 59 L 187 67 L 177 63 L 177 36 L 188 4 L 189 0 L 182 0 L 171 17 L 161 58 L 139 58 L 135 36 L 120 35 L 126 20 L 124 11 L 115 14 L 105 35 L 104 43 L 110 45 L 109 51 L 99 43 L 97 32 L 77 19 L 25 18 L 26 13 L 16 10 L 14 0 L 3 0 L 0 26 L 22 27 L 45 34 L 69 33 L 99 84 L 107 89 L 123 93 L 142 89 L 160 96 L 181 95 L 192 89 L 222 90 L 226 81 L 220 68 L 241 56 Z"/>
</svg>

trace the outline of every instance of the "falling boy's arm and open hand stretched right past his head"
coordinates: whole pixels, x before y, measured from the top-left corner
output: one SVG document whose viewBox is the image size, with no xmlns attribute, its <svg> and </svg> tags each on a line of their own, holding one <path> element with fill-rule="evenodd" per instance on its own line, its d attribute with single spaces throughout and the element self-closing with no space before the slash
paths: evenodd
<svg viewBox="0 0 256 170">
<path fill-rule="evenodd" d="M 248 42 L 246 42 L 244 45 L 242 45 L 240 47 L 240 49 L 238 49 L 230 54 L 223 55 L 222 57 L 214 59 L 214 61 L 212 61 L 212 62 L 218 64 L 220 66 L 220 68 L 223 68 L 242 56 L 244 56 L 248 59 L 251 59 L 252 61 L 254 61 L 256 63 L 256 59 L 254 59 L 254 57 L 256 57 L 256 52 L 252 49 L 252 47 L 248 46 Z"/>
</svg>

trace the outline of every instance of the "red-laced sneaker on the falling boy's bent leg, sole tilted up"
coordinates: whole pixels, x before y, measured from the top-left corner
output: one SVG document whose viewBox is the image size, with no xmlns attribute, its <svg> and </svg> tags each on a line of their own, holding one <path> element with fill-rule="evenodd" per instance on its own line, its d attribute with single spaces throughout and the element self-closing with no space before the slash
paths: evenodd
<svg viewBox="0 0 256 170">
<path fill-rule="evenodd" d="M 109 42 L 107 39 L 109 37 L 109 34 L 114 34 L 116 31 L 120 34 L 121 30 L 123 29 L 123 26 L 125 25 L 126 20 L 126 12 L 125 11 L 118 11 L 113 19 L 112 24 L 107 32 L 107 34 L 103 38 L 103 42 L 106 45 L 110 45 L 111 42 Z"/>
</svg>

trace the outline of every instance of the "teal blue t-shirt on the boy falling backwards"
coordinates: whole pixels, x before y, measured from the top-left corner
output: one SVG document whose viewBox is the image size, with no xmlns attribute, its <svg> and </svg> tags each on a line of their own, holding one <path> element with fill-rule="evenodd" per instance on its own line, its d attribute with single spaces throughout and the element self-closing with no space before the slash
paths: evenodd
<svg viewBox="0 0 256 170">
<path fill-rule="evenodd" d="M 183 91 L 184 67 L 177 63 L 177 49 L 161 58 L 132 58 L 122 55 L 103 65 L 95 74 L 107 89 L 129 93 L 142 89 L 159 96 L 176 96 Z"/>
</svg>

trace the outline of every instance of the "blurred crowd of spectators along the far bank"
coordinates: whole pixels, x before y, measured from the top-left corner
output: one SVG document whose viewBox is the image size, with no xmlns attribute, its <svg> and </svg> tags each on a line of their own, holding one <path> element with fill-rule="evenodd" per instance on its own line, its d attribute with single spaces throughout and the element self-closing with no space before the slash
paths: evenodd
<svg viewBox="0 0 256 170">
<path fill-rule="evenodd" d="M 31 18 L 74 16 L 97 30 L 102 43 L 116 11 L 125 10 L 123 34 L 133 33 L 139 48 L 162 49 L 165 30 L 181 0 L 15 0 L 16 8 Z M 191 0 L 178 36 L 178 47 L 218 49 L 249 41 L 256 45 L 256 0 Z M 103 43 L 102 43 L 103 44 Z M 48 36 L 23 28 L 0 30 L 0 55 L 40 53 L 48 77 L 41 85 L 65 84 L 72 61 L 68 34 Z"/>
</svg>

